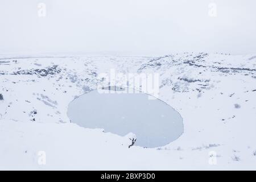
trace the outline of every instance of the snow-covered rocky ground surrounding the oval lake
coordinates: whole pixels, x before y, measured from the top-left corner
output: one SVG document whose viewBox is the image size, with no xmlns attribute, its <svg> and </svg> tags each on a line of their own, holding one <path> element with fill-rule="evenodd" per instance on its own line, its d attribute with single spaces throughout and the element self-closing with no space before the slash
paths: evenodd
<svg viewBox="0 0 256 182">
<path fill-rule="evenodd" d="M 0 59 L 0 169 L 256 169 L 255 55 L 9 57 Z M 159 73 L 159 98 L 183 117 L 183 135 L 129 148 L 131 134 L 70 123 L 68 104 L 110 69 Z"/>
</svg>

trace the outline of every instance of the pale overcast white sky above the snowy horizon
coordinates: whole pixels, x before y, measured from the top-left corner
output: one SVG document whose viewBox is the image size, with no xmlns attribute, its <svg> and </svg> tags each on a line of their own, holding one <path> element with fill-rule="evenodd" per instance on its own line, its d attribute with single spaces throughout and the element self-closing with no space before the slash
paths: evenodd
<svg viewBox="0 0 256 182">
<path fill-rule="evenodd" d="M 256 53 L 255 0 L 0 0 L 0 23 L 2 54 Z"/>
</svg>

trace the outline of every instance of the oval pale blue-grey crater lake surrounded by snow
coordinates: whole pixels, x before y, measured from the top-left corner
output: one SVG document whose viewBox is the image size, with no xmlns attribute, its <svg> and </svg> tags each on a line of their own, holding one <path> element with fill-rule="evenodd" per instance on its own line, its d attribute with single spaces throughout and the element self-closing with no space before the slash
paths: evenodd
<svg viewBox="0 0 256 182">
<path fill-rule="evenodd" d="M 73 100 L 68 107 L 71 122 L 121 136 L 134 133 L 134 145 L 142 147 L 164 146 L 183 134 L 183 119 L 165 102 L 128 88 L 112 86 L 103 91 L 93 90 Z"/>
</svg>

